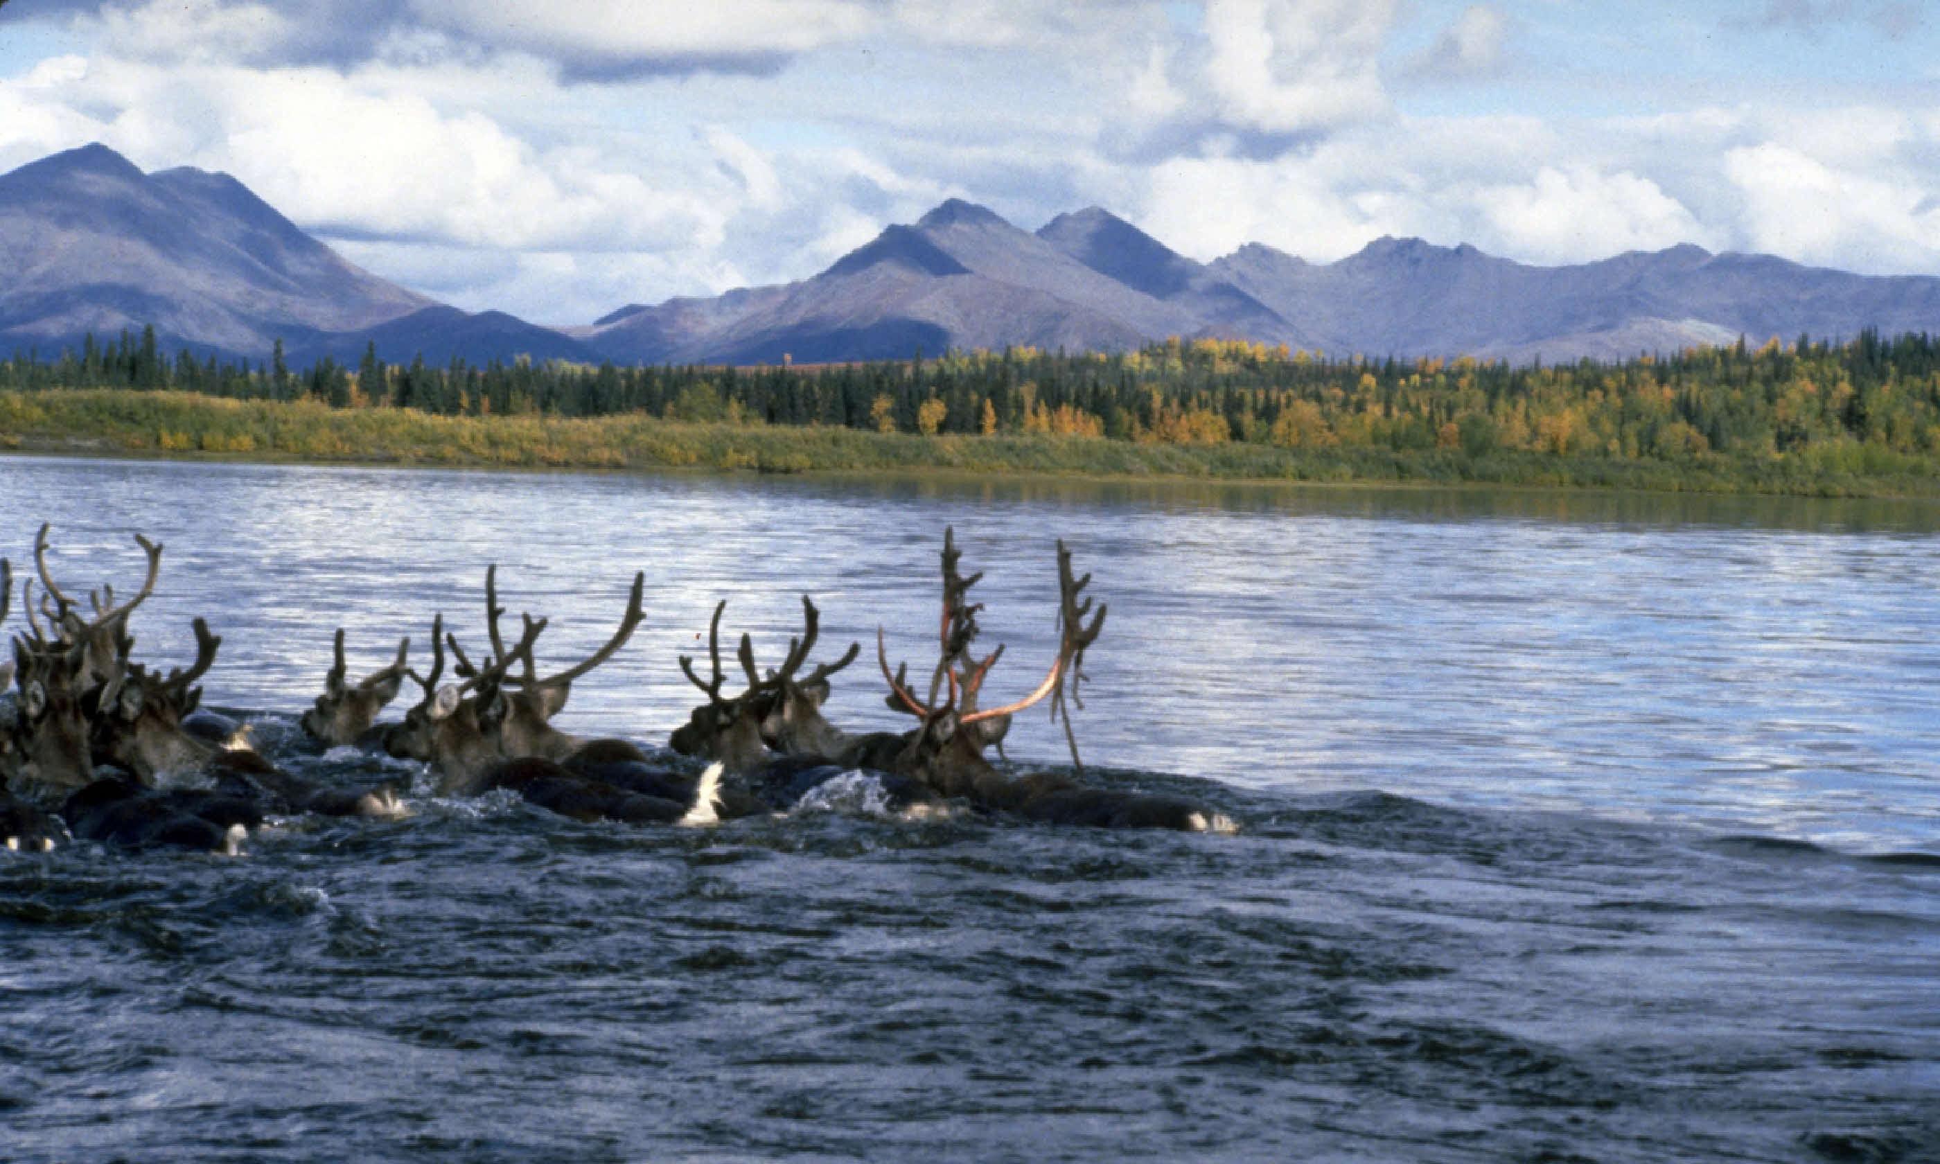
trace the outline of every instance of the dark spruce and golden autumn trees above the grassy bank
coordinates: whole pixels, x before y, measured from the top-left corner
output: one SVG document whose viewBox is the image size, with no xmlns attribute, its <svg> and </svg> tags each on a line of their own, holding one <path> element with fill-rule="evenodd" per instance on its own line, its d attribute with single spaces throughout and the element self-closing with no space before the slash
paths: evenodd
<svg viewBox="0 0 1940 1164">
<path fill-rule="evenodd" d="M 1690 460 L 1800 450 L 1940 456 L 1940 340 L 1808 336 L 1566 365 L 1325 357 L 1230 340 L 1123 353 L 1030 347 L 819 367 L 574 365 L 452 359 L 291 369 L 155 345 L 153 328 L 0 363 L 0 390 L 132 388 L 314 400 L 431 415 L 609 417 L 1050 435 L 1294 450 L 1451 450 Z"/>
</svg>

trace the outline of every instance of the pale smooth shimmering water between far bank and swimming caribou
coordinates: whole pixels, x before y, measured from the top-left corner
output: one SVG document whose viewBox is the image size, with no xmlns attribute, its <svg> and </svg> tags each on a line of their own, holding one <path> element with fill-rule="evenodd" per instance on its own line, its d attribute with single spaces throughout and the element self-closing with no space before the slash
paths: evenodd
<svg viewBox="0 0 1940 1164">
<path fill-rule="evenodd" d="M 400 634 L 423 648 L 436 611 L 481 638 L 487 563 L 514 615 L 551 619 L 541 667 L 565 667 L 644 570 L 646 623 L 561 724 L 662 741 L 696 698 L 675 658 L 722 598 L 764 665 L 811 594 L 821 658 L 881 625 L 920 673 L 954 526 L 987 642 L 1009 644 L 987 698 L 1051 658 L 1053 539 L 1094 572 L 1094 762 L 1940 846 L 1934 502 L 37 458 L 0 460 L 0 551 L 27 563 L 52 522 L 76 590 L 136 586 L 130 534 L 165 541 L 140 654 L 186 662 L 208 617 L 217 704 L 295 712 L 340 625 L 353 671 Z M 865 652 L 830 716 L 898 726 L 881 693 Z M 1057 762 L 1063 739 L 1032 712 L 1009 751 Z"/>
</svg>

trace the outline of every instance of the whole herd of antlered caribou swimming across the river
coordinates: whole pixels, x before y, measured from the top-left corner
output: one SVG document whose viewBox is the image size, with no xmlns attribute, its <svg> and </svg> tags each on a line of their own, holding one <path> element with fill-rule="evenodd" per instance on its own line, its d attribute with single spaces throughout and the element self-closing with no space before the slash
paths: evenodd
<svg viewBox="0 0 1940 1164">
<path fill-rule="evenodd" d="M 196 658 L 186 667 L 134 660 L 130 619 L 155 592 L 163 547 L 136 535 L 147 576 L 126 601 L 113 586 L 85 594 L 85 605 L 62 590 L 48 568 L 48 528 L 35 537 L 35 576 L 19 584 L 25 629 L 14 632 L 10 660 L 0 660 L 0 838 L 8 850 L 50 850 L 68 838 L 111 848 L 178 846 L 237 854 L 250 828 L 305 813 L 330 817 L 398 817 L 400 790 L 336 786 L 293 774 L 248 747 L 237 720 L 200 710 L 200 681 L 215 662 L 221 636 L 194 621 Z M 1104 627 L 1106 607 L 1084 598 L 1090 574 L 1073 576 L 1071 553 L 1057 543 L 1059 648 L 1044 681 L 1026 696 L 982 706 L 984 685 L 1003 656 L 997 646 L 972 654 L 978 638 L 970 588 L 982 578 L 958 572 L 954 535 L 943 537 L 943 609 L 939 658 L 927 689 L 908 667 L 894 671 L 877 630 L 877 662 L 890 710 L 916 720 L 902 731 L 848 733 L 823 716 L 830 679 L 856 662 L 861 644 L 834 662 L 811 663 L 819 636 L 815 603 L 803 596 L 801 636 L 790 640 L 780 667 L 762 669 L 741 634 L 735 660 L 741 687 L 729 695 L 722 667 L 722 615 L 708 625 L 708 675 L 695 660 L 679 663 L 706 702 L 696 706 L 669 747 L 693 762 L 656 762 L 625 739 L 582 739 L 553 728 L 572 683 L 613 658 L 644 619 L 644 574 L 632 580 L 627 611 L 613 636 L 586 660 L 541 675 L 535 644 L 545 619 L 522 615 L 516 640 L 501 629 L 497 566 L 485 570 L 485 638 L 468 654 L 440 613 L 431 625 L 431 667 L 411 665 L 411 640 L 396 658 L 357 683 L 349 681 L 343 630 L 324 693 L 301 718 L 318 749 L 365 749 L 419 760 L 438 797 L 506 790 L 543 809 L 580 821 L 632 824 L 714 824 L 724 819 L 786 813 L 815 788 L 846 774 L 865 774 L 883 803 L 908 817 L 972 813 L 1055 824 L 1108 828 L 1183 828 L 1230 832 L 1232 819 L 1166 795 L 1088 788 L 1036 772 L 1015 776 L 986 753 L 1011 728 L 1011 716 L 1050 700 L 1065 722 L 1077 702 L 1084 650 Z M 39 594 L 35 592 L 39 578 Z M 14 570 L 0 559 L 0 623 L 14 601 Z M 400 722 L 378 722 L 405 691 L 419 693 Z M 1073 768 L 1077 743 L 1071 741 Z M 693 768 L 706 762 L 700 772 Z"/>
</svg>

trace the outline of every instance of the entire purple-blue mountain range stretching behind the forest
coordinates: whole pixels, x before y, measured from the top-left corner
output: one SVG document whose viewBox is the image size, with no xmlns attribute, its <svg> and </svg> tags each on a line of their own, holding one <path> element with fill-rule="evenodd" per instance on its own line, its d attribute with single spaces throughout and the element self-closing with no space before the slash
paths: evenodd
<svg viewBox="0 0 1940 1164">
<path fill-rule="evenodd" d="M 1798 334 L 1940 330 L 1940 279 L 1855 275 L 1698 246 L 1529 266 L 1377 239 L 1331 264 L 1263 244 L 1201 264 L 1098 208 L 1036 233 L 949 200 L 828 270 L 545 328 L 365 272 L 227 175 L 144 175 L 85 146 L 0 175 L 0 353 L 153 326 L 159 343 L 293 365 L 423 353 L 584 363 L 828 363 L 922 349 L 1117 351 L 1166 336 L 1331 355 L 1622 359 Z"/>
</svg>

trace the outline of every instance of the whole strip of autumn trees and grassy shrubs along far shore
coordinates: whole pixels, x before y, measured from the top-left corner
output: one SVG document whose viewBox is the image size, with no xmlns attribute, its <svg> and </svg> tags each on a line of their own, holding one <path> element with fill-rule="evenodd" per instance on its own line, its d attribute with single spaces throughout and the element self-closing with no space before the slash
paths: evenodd
<svg viewBox="0 0 1940 1164">
<path fill-rule="evenodd" d="M 824 367 L 250 367 L 122 336 L 0 363 L 0 450 L 442 468 L 947 471 L 1940 497 L 1940 340 L 1624 363 L 1244 341 Z"/>
</svg>

